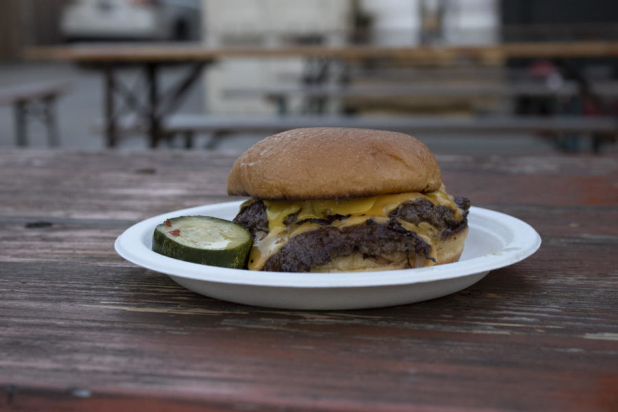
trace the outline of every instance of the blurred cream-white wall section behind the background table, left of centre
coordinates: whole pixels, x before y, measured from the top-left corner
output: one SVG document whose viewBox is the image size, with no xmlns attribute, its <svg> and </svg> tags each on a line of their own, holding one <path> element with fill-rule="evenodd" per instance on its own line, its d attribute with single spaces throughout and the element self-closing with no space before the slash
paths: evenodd
<svg viewBox="0 0 618 412">
<path fill-rule="evenodd" d="M 203 0 L 204 41 L 211 47 L 345 45 L 352 30 L 353 1 Z M 229 87 L 297 84 L 301 58 L 219 62 L 207 72 L 206 105 L 212 113 L 271 113 L 262 98 L 225 99 Z"/>
</svg>

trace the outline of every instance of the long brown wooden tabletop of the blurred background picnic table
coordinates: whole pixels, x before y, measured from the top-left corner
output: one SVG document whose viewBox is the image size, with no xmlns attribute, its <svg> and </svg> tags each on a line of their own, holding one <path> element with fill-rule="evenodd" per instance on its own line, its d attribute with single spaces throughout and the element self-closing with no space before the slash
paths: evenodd
<svg viewBox="0 0 618 412">
<path fill-rule="evenodd" d="M 505 43 L 484 46 L 410 46 L 376 45 L 293 46 L 293 47 L 206 47 L 205 45 L 106 44 L 31 47 L 25 51 L 31 59 L 70 60 L 76 62 L 187 62 L 219 58 L 322 57 L 349 60 L 393 58 L 412 60 L 453 60 L 469 58 L 549 58 L 618 56 L 618 42 Z"/>
</svg>

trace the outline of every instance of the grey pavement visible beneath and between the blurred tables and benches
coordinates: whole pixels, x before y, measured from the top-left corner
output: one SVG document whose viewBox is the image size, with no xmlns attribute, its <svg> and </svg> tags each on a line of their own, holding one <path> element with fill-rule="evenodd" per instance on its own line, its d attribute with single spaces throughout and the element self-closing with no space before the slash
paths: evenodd
<svg viewBox="0 0 618 412">
<path fill-rule="evenodd" d="M 163 84 L 176 79 L 179 70 L 163 74 Z M 126 84 L 134 82 L 136 71 L 127 69 L 122 73 Z M 103 107 L 103 79 L 99 71 L 82 69 L 74 65 L 56 63 L 29 63 L 0 65 L 0 88 L 40 82 L 43 80 L 69 80 L 73 89 L 58 101 L 58 123 L 60 144 L 63 148 L 97 149 L 104 148 L 104 139 L 95 127 L 101 123 Z M 203 113 L 203 84 L 198 84 L 188 93 L 182 113 Z M 275 108 L 273 108 L 273 113 Z M 30 146 L 46 146 L 45 129 L 38 122 L 31 122 Z M 264 135 L 232 135 L 222 141 L 220 148 L 244 150 Z M 416 135 L 431 150 L 441 154 L 516 154 L 518 152 L 552 152 L 551 144 L 531 135 Z M 205 143 L 204 137 L 201 141 Z M 198 141 L 198 144 L 201 144 Z M 14 145 L 14 113 L 10 106 L 0 106 L 0 148 Z M 121 148 L 146 148 L 146 139 L 141 136 L 123 139 Z M 199 147 L 199 146 L 198 146 Z M 586 148 L 584 148 L 585 150 Z M 616 146 L 605 148 L 615 151 Z"/>
</svg>

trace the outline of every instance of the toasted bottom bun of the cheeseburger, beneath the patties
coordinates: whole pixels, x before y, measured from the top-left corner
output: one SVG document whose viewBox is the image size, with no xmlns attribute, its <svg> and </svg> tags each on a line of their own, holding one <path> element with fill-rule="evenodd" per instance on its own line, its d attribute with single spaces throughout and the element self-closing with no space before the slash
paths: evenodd
<svg viewBox="0 0 618 412">
<path fill-rule="evenodd" d="M 461 257 L 461 252 L 464 251 L 464 240 L 466 240 L 467 235 L 468 227 L 434 244 L 435 264 L 457 262 Z M 311 272 L 394 271 L 397 269 L 422 268 L 432 264 L 431 260 L 427 260 L 416 253 L 408 255 L 404 252 L 396 252 L 379 258 L 365 258 L 361 253 L 352 253 L 352 255 L 334 258 L 328 264 L 311 266 Z"/>
</svg>

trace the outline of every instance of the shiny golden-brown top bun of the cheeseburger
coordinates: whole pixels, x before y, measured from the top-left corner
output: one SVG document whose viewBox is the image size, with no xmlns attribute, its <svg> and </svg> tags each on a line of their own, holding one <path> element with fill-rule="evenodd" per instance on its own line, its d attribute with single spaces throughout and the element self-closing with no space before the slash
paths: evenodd
<svg viewBox="0 0 618 412">
<path fill-rule="evenodd" d="M 299 128 L 245 151 L 227 178 L 231 195 L 308 200 L 433 192 L 442 185 L 433 154 L 404 133 Z"/>
</svg>

